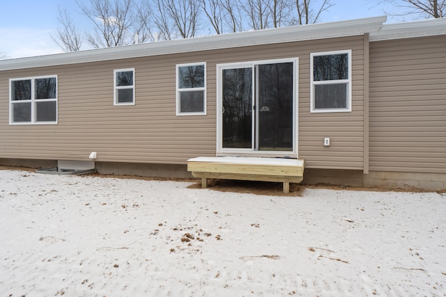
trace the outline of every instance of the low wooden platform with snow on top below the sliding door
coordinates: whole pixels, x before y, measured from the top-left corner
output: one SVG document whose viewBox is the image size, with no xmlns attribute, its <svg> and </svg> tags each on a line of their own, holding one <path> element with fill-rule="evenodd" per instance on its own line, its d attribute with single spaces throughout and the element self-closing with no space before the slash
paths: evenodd
<svg viewBox="0 0 446 297">
<path fill-rule="evenodd" d="M 305 161 L 300 159 L 258 158 L 242 156 L 200 156 L 187 160 L 187 170 L 201 177 L 201 187 L 207 179 L 240 179 L 259 182 L 282 182 L 289 193 L 290 182 L 302 182 Z"/>
</svg>

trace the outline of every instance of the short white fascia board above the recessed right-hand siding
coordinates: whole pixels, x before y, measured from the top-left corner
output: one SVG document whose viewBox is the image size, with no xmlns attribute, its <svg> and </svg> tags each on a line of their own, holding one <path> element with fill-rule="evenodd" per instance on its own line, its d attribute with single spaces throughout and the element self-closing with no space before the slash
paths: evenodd
<svg viewBox="0 0 446 297">
<path fill-rule="evenodd" d="M 424 19 L 422 21 L 384 24 L 378 32 L 370 33 L 369 40 L 391 40 L 446 34 L 446 18 Z"/>
</svg>

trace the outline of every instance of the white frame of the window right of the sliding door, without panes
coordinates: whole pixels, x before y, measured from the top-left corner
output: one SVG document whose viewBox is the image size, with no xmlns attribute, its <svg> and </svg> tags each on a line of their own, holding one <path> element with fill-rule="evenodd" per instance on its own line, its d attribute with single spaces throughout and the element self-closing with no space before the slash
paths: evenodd
<svg viewBox="0 0 446 297">
<path fill-rule="evenodd" d="M 352 106 L 352 95 L 351 95 L 351 85 L 352 85 L 352 70 L 351 70 L 351 49 L 344 49 L 339 51 L 321 51 L 310 54 L 310 113 L 342 113 L 342 112 L 351 112 Z M 327 80 L 327 81 L 314 81 L 314 57 L 316 56 L 330 56 L 337 54 L 347 54 L 348 55 L 348 79 L 336 79 L 336 80 Z M 336 83 L 346 83 L 346 108 L 332 108 L 332 109 L 316 109 L 316 90 L 315 86 L 327 86 L 330 84 Z"/>
</svg>

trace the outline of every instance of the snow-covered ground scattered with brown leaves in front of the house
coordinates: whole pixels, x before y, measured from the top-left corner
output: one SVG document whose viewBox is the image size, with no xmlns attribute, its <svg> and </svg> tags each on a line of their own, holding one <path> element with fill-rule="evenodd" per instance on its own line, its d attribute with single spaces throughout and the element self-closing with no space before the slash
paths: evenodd
<svg viewBox="0 0 446 297">
<path fill-rule="evenodd" d="M 191 184 L 0 170 L 0 296 L 446 294 L 445 194 Z"/>
</svg>

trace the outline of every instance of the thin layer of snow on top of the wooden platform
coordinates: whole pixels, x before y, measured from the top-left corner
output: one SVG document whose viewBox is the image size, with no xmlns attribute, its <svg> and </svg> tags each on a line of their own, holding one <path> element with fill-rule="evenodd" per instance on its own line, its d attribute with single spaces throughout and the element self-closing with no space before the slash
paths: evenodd
<svg viewBox="0 0 446 297">
<path fill-rule="evenodd" d="M 199 156 L 188 162 L 210 162 L 252 165 L 303 166 L 303 161 L 291 158 L 254 158 L 247 156 Z"/>
</svg>

